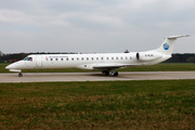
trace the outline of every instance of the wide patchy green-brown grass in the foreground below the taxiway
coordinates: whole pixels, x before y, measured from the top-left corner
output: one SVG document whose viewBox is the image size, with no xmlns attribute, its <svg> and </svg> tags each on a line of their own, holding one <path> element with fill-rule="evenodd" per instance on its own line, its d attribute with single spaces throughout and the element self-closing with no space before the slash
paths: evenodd
<svg viewBox="0 0 195 130">
<path fill-rule="evenodd" d="M 0 129 L 195 129 L 195 81 L 0 83 Z"/>
</svg>

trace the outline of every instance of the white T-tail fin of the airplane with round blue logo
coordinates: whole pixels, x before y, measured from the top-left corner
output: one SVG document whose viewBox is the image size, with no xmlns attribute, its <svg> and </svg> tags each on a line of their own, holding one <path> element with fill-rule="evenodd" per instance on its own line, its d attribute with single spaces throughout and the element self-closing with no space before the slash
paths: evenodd
<svg viewBox="0 0 195 130">
<path fill-rule="evenodd" d="M 190 35 L 167 37 L 162 42 L 162 44 L 160 46 L 160 48 L 158 48 L 155 51 L 161 54 L 171 55 L 174 47 L 174 41 L 177 40 L 177 38 L 182 38 L 182 37 L 190 37 Z"/>
</svg>

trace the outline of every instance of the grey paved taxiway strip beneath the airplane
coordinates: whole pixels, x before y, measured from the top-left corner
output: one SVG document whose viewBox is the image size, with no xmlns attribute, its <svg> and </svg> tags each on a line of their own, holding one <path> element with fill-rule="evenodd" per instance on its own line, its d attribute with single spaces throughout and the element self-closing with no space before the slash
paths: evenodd
<svg viewBox="0 0 195 130">
<path fill-rule="evenodd" d="M 195 72 L 119 72 L 117 77 L 96 73 L 17 73 L 0 74 L 0 82 L 114 81 L 114 80 L 195 79 Z"/>
</svg>

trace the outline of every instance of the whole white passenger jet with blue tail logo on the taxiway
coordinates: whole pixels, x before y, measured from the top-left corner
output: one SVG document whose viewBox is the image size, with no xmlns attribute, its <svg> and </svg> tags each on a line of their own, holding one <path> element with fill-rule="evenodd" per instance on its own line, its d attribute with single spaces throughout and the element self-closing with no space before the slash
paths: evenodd
<svg viewBox="0 0 195 130">
<path fill-rule="evenodd" d="M 130 53 L 92 53 L 92 54 L 30 54 L 24 60 L 12 63 L 5 68 L 17 72 L 22 69 L 81 68 L 101 70 L 104 75 L 118 76 L 118 68 L 139 65 L 154 65 L 171 57 L 174 41 L 190 35 L 170 36 L 155 50 Z"/>
</svg>

